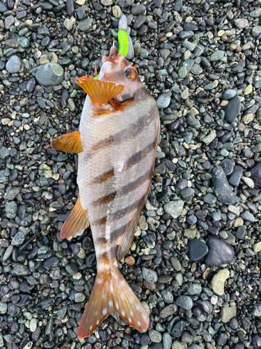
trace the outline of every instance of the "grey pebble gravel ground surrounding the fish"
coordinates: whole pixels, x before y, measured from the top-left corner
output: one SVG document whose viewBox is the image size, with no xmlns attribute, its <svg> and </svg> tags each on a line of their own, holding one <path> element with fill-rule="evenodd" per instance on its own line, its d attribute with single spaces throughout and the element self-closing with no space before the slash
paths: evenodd
<svg viewBox="0 0 261 349">
<path fill-rule="evenodd" d="M 122 0 L 0 2 L 0 347 L 261 348 L 261 3 L 125 0 L 141 81 L 157 100 L 153 188 L 125 261 L 150 315 L 77 327 L 95 280 L 91 232 L 62 241 L 76 131 L 117 38 Z"/>
</svg>

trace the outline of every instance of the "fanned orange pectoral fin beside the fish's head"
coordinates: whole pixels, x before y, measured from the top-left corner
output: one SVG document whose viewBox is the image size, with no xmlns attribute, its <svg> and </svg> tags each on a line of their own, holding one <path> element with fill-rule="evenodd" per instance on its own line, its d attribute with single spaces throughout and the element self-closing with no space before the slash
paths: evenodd
<svg viewBox="0 0 261 349">
<path fill-rule="evenodd" d="M 94 80 L 91 76 L 79 77 L 76 83 L 86 91 L 94 105 L 108 103 L 111 98 L 116 97 L 124 89 L 122 85 L 116 86 L 113 82 Z"/>
</svg>

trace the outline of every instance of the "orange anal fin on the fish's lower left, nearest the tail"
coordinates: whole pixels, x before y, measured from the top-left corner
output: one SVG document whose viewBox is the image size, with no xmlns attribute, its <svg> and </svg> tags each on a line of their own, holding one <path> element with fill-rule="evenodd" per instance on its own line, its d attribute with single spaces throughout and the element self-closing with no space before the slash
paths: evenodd
<svg viewBox="0 0 261 349">
<path fill-rule="evenodd" d="M 79 230 L 86 229 L 88 226 L 89 221 L 87 218 L 87 211 L 81 207 L 81 200 L 78 196 L 74 208 L 61 228 L 61 239 L 65 239 L 65 237 L 72 237 L 72 235 L 79 232 Z"/>
</svg>

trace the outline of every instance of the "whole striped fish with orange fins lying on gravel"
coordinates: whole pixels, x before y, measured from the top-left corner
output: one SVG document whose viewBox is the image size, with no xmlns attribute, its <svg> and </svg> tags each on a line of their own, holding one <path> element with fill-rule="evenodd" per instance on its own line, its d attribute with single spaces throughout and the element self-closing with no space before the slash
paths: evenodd
<svg viewBox="0 0 261 349">
<path fill-rule="evenodd" d="M 111 313 L 143 331 L 150 318 L 118 267 L 150 195 L 160 135 L 159 110 L 139 73 L 115 46 L 102 57 L 97 80 L 80 77 L 86 91 L 79 131 L 52 140 L 53 149 L 78 154 L 79 196 L 61 228 L 71 237 L 90 225 L 97 276 L 79 324 L 92 334 Z"/>
</svg>

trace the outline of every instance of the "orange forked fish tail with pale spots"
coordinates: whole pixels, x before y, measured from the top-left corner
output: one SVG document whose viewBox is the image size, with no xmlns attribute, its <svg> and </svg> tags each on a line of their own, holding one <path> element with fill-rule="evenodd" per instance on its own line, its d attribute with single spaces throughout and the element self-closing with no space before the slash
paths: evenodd
<svg viewBox="0 0 261 349">
<path fill-rule="evenodd" d="M 115 268 L 109 274 L 97 274 L 93 292 L 81 318 L 78 338 L 86 338 L 111 313 L 118 313 L 130 326 L 143 331 L 150 318 L 132 288 Z"/>
</svg>

